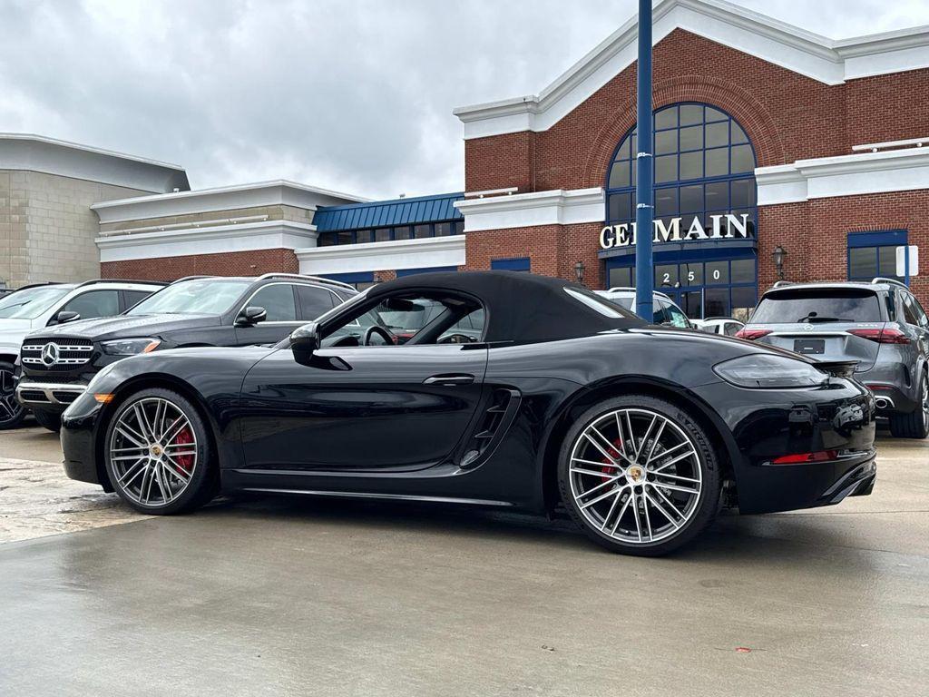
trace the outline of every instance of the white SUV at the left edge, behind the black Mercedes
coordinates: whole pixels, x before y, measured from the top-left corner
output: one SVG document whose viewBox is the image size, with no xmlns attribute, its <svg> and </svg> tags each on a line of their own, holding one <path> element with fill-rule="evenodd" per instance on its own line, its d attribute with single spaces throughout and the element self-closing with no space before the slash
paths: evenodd
<svg viewBox="0 0 929 697">
<path fill-rule="evenodd" d="M 121 314 L 164 285 L 119 280 L 46 283 L 0 297 L 0 429 L 19 426 L 26 416 L 15 395 L 16 363 L 26 335 L 53 324 Z"/>
</svg>

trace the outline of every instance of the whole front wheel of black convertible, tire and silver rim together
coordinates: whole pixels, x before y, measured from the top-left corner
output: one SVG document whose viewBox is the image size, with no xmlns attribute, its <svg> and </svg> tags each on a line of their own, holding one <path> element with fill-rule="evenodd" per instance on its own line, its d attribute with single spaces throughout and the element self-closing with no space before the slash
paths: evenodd
<svg viewBox="0 0 929 697">
<path fill-rule="evenodd" d="M 184 513 L 213 497 L 212 448 L 203 418 L 183 395 L 144 389 L 113 414 L 104 441 L 107 474 L 137 511 Z"/>
</svg>

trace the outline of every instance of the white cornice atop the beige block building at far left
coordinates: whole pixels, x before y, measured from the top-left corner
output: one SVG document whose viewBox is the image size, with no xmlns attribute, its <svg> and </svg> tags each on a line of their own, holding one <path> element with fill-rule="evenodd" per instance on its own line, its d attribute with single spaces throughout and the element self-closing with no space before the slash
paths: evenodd
<svg viewBox="0 0 929 697">
<path fill-rule="evenodd" d="M 28 133 L 0 133 L 0 169 L 26 170 L 138 191 L 190 189 L 178 164 Z"/>
</svg>

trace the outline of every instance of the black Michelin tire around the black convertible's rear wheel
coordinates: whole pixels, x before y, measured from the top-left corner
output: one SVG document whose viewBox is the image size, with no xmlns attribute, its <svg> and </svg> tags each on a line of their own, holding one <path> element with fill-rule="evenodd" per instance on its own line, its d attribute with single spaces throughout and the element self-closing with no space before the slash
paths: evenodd
<svg viewBox="0 0 929 697">
<path fill-rule="evenodd" d="M 665 522 L 664 525 L 669 530 L 672 530 L 671 533 L 665 533 L 664 537 L 657 539 L 657 541 L 649 542 L 627 542 L 620 539 L 617 539 L 614 535 L 605 532 L 601 528 L 595 526 L 592 520 L 587 518 L 587 514 L 582 513 L 581 505 L 575 500 L 574 493 L 571 490 L 571 480 L 570 478 L 570 463 L 572 453 L 575 452 L 576 443 L 579 445 L 582 443 L 582 432 L 585 431 L 588 427 L 595 425 L 597 423 L 608 423 L 600 422 L 600 419 L 603 419 L 606 414 L 612 414 L 619 410 L 631 409 L 638 410 L 638 414 L 646 414 L 644 418 L 648 419 L 648 414 L 659 414 L 664 419 L 667 419 L 668 422 L 673 424 L 672 431 L 670 431 L 675 438 L 681 438 L 681 442 L 690 441 L 693 451 L 696 453 L 695 456 L 688 458 L 687 467 L 700 468 L 700 493 L 696 494 L 696 503 L 688 504 L 692 506 L 689 508 L 689 517 L 679 524 L 678 528 L 670 528 L 668 526 L 671 523 Z M 641 415 L 639 416 L 642 417 Z M 619 417 L 616 419 L 619 421 Z M 674 428 L 676 427 L 676 429 Z M 679 429 L 679 430 L 677 430 Z M 680 435 L 683 434 L 683 435 Z M 622 440 L 622 435 L 621 435 Z M 644 440 L 644 439 L 643 439 Z M 645 450 L 654 439 L 649 439 L 645 441 L 645 444 L 640 446 L 640 450 Z M 618 450 L 618 448 L 617 448 Z M 623 450 L 625 448 L 623 447 Z M 684 450 L 687 450 L 685 447 Z M 601 453 L 603 451 L 600 451 Z M 649 451 L 651 454 L 652 451 Z M 683 452 L 683 451 L 682 451 Z M 665 460 L 665 462 L 673 459 L 671 456 Z M 599 461 L 599 460 L 598 460 Z M 628 465 L 622 460 L 625 471 L 629 473 L 633 469 L 633 466 Z M 603 462 L 606 463 L 606 460 Z M 635 458 L 635 462 L 638 462 L 638 458 Z M 656 465 L 660 466 L 662 460 L 658 459 Z M 579 466 L 584 467 L 584 466 Z M 589 465 L 587 467 L 590 467 Z M 605 467 L 609 467 L 606 465 Z M 663 468 L 663 467 L 662 467 Z M 603 470 L 607 471 L 607 470 Z M 617 468 L 616 473 L 618 474 L 620 469 Z M 640 470 L 641 471 L 641 470 Z M 628 481 L 628 486 L 630 487 L 630 492 L 633 490 L 637 492 L 647 492 L 651 491 L 655 494 L 656 498 L 658 493 L 655 491 L 655 485 L 651 482 L 655 477 L 659 476 L 657 474 L 652 474 L 651 470 L 648 467 L 645 468 L 645 471 L 648 474 L 643 474 L 643 483 L 637 488 L 632 485 L 631 480 Z M 675 467 L 675 473 L 678 472 Z M 693 473 L 696 477 L 696 472 Z M 582 475 L 583 476 L 583 475 Z M 606 480 L 606 477 L 604 478 Z M 627 483 L 626 479 L 618 480 L 619 483 Z M 613 488 L 614 491 L 619 492 L 618 487 L 609 485 L 610 488 Z M 621 554 L 635 555 L 638 557 L 660 557 L 662 555 L 673 552 L 675 549 L 687 545 L 688 542 L 697 537 L 702 533 L 710 523 L 713 522 L 713 519 L 716 516 L 716 512 L 719 508 L 719 496 L 721 488 L 721 479 L 719 473 L 719 460 L 718 456 L 713 448 L 712 441 L 707 435 L 703 427 L 700 426 L 697 421 L 695 421 L 690 414 L 686 411 L 675 406 L 671 402 L 656 399 L 654 397 L 648 397 L 646 395 L 624 395 L 622 397 L 617 397 L 609 399 L 606 401 L 601 401 L 586 412 L 581 414 L 580 417 L 575 421 L 575 423 L 570 427 L 568 434 L 565 437 L 564 442 L 562 443 L 561 450 L 558 454 L 558 488 L 561 492 L 561 499 L 564 503 L 564 506 L 568 509 L 568 512 L 572 519 L 581 527 L 583 532 L 590 537 L 597 545 L 606 547 L 612 552 L 619 552 Z M 596 487 L 593 487 L 595 489 Z M 604 490 L 607 491 L 607 490 Z M 598 494 L 599 495 L 599 494 Z M 625 494 L 628 495 L 628 494 Z M 639 494 L 641 496 L 642 505 L 648 507 L 648 496 Z M 672 496 L 674 497 L 674 493 Z M 619 501 L 624 501 L 625 499 L 620 498 L 620 494 L 616 494 L 616 498 Z M 585 506 L 589 506 L 591 499 L 588 499 L 585 502 Z M 609 501 L 609 499 L 608 499 Z M 635 499 L 634 499 L 635 501 Z M 604 504 L 606 506 L 606 504 Z M 638 508 L 637 505 L 634 506 L 635 510 L 629 509 L 635 514 L 636 525 L 638 525 L 638 511 L 643 510 Z M 655 514 L 655 506 L 651 508 L 652 514 Z M 626 511 L 625 506 L 622 506 L 622 509 L 619 511 L 617 519 L 622 518 L 623 511 Z M 604 524 L 606 525 L 609 520 L 609 513 L 604 517 Z M 629 515 L 627 511 L 625 515 Z M 644 510 L 643 510 L 644 517 Z M 683 518 L 683 516 L 682 516 Z M 668 516 L 664 516 L 663 519 L 670 519 Z M 661 518 L 656 518 L 657 521 L 660 521 Z M 679 522 L 679 521 L 678 521 Z M 652 530 L 649 524 L 649 533 Z M 615 533 L 616 528 L 613 527 L 613 532 Z M 639 531 L 639 536 L 641 538 L 642 534 Z M 659 535 L 650 535 L 652 537 L 660 537 Z"/>
</svg>

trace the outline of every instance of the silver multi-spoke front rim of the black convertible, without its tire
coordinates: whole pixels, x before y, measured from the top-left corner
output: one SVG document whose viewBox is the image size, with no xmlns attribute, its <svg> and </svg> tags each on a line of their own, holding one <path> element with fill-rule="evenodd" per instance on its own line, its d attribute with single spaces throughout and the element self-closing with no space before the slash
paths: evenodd
<svg viewBox="0 0 929 697">
<path fill-rule="evenodd" d="M 190 484 L 197 435 L 177 404 L 144 398 L 124 409 L 113 426 L 110 462 L 121 492 L 141 506 L 164 506 Z"/>
</svg>

